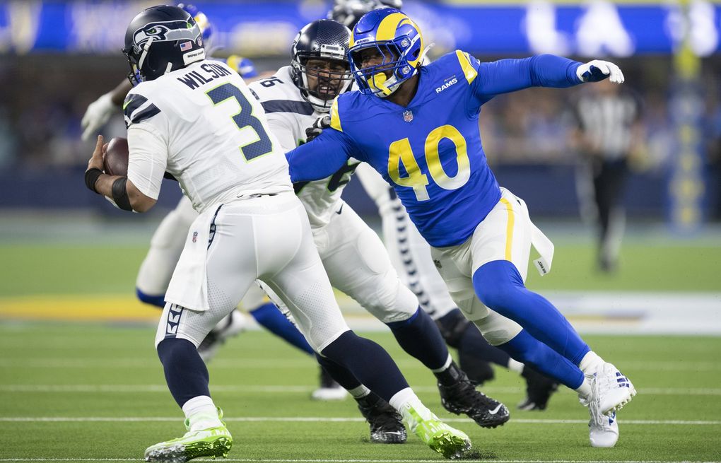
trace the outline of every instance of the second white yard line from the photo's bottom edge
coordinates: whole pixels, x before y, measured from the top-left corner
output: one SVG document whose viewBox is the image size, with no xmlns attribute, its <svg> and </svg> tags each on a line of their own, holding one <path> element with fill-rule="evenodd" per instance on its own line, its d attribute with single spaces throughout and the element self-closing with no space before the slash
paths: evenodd
<svg viewBox="0 0 721 463">
<path fill-rule="evenodd" d="M 47 417 L 0 417 L 0 422 L 10 423 L 70 423 L 70 422 L 100 422 L 100 423 L 139 423 L 139 422 L 162 422 L 162 421 L 179 421 L 177 417 L 157 417 L 157 416 L 138 416 L 138 417 L 64 417 L 64 416 L 47 416 Z M 239 417 L 224 418 L 226 421 L 237 422 L 282 422 L 282 423 L 326 423 L 329 421 L 336 423 L 355 423 L 364 422 L 363 418 L 329 418 L 322 416 L 258 416 L 258 417 Z M 444 418 L 443 421 L 450 423 L 472 423 L 470 418 Z M 721 420 L 620 420 L 624 425 L 721 425 Z M 512 419 L 510 423 L 523 424 L 585 424 L 588 420 L 533 420 L 533 419 Z M 494 460 L 495 461 L 495 460 Z"/>
</svg>

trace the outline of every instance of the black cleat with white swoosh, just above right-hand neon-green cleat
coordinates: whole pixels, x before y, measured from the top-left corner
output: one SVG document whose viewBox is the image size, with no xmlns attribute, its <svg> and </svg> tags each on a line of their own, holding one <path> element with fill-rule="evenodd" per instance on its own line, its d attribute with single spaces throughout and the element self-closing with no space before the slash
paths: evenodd
<svg viewBox="0 0 721 463">
<path fill-rule="evenodd" d="M 454 379 L 449 385 L 438 382 L 441 403 L 446 410 L 456 415 L 464 413 L 482 428 L 495 428 L 508 421 L 508 407 L 477 391 L 455 363 L 451 363 L 451 367 L 443 373 L 448 373 Z"/>
</svg>

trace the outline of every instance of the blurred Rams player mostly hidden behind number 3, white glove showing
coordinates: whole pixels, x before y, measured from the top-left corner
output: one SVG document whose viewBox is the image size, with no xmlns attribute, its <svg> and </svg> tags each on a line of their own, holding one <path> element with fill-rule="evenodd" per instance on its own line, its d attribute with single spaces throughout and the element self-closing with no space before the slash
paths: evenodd
<svg viewBox="0 0 721 463">
<path fill-rule="evenodd" d="M 203 32 L 203 40 L 208 50 L 212 50 L 210 40 L 213 35 L 213 25 L 208 21 L 203 12 L 199 12 L 195 6 L 190 4 L 178 4 L 188 14 L 193 16 L 195 22 Z M 216 58 L 213 58 L 216 59 Z M 225 62 L 244 79 L 257 78 L 257 71 L 252 61 L 241 56 L 232 55 Z M 125 96 L 133 88 L 129 79 L 123 80 L 118 87 L 99 97 L 92 102 L 83 119 L 83 138 L 87 139 L 93 133 L 102 128 L 111 115 L 120 113 Z M 167 291 L 170 277 L 175 265 L 180 258 L 180 253 L 185 246 L 185 237 L 190 224 L 198 218 L 198 213 L 193 209 L 193 204 L 187 197 L 183 196 L 176 208 L 162 220 L 156 229 L 150 242 L 150 249 L 136 278 L 136 295 L 138 299 L 147 304 L 163 308 L 165 305 L 165 292 Z M 242 301 L 243 309 L 273 334 L 286 340 L 294 347 L 302 350 L 309 356 L 314 356 L 313 348 L 304 338 L 300 331 L 288 321 L 285 315 L 281 314 L 275 304 L 267 298 L 265 293 L 257 286 L 252 286 Z M 200 343 L 198 352 L 204 361 L 210 361 L 215 355 L 218 347 L 225 340 L 238 334 L 247 322 L 244 315 L 237 310 L 231 312 L 228 317 L 222 319 L 207 338 Z M 311 394 L 316 400 L 340 400 L 345 398 L 347 393 L 322 367 L 320 370 L 320 386 Z"/>
</svg>

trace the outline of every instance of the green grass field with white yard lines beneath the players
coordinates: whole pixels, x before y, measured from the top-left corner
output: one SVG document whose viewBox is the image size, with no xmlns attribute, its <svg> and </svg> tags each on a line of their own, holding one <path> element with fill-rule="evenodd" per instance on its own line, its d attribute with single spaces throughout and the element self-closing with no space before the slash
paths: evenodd
<svg viewBox="0 0 721 463">
<path fill-rule="evenodd" d="M 21 236 L 11 230 L 0 245 L 0 462 L 139 461 L 146 446 L 184 432 L 152 345 L 153 326 L 2 318 L 3 301 L 18 296 L 42 296 L 35 304 L 50 311 L 62 310 L 53 307 L 56 295 L 63 301 L 58 307 L 65 308 L 75 296 L 132 298 L 151 227 L 131 234 L 112 224 L 76 228 L 84 232 L 35 226 L 23 228 Z M 61 236 L 53 239 L 56 232 Z M 614 275 L 594 270 L 588 235 L 551 236 L 557 245 L 552 273 L 540 278 L 529 270 L 528 286 L 541 293 L 721 292 L 717 234 L 691 241 L 629 234 Z M 515 411 L 502 428 L 485 430 L 442 410 L 433 376 L 391 335 L 367 335 L 392 353 L 427 405 L 469 433 L 483 459 L 721 462 L 721 338 L 585 336 L 639 391 L 619 413 L 616 448 L 592 449 L 588 413 L 575 394 L 563 390 L 546 412 Z M 213 397 L 224 407 L 235 439 L 231 461 L 442 459 L 415 436 L 402 446 L 370 444 L 353 400 L 309 400 L 317 366 L 266 332 L 245 332 L 229 341 L 210 371 Z M 497 370 L 484 390 L 510 407 L 523 398 L 523 382 L 508 371 Z"/>
</svg>

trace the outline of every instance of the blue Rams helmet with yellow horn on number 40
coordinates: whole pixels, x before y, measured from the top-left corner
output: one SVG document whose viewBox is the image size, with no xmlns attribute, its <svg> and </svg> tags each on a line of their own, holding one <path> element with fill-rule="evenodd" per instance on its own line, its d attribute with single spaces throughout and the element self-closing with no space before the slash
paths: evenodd
<svg viewBox="0 0 721 463">
<path fill-rule="evenodd" d="M 369 49 L 383 61 L 363 68 L 363 52 Z M 415 22 L 397 9 L 376 9 L 353 27 L 348 58 L 358 89 L 384 98 L 417 73 L 423 61 L 423 35 Z"/>
</svg>

